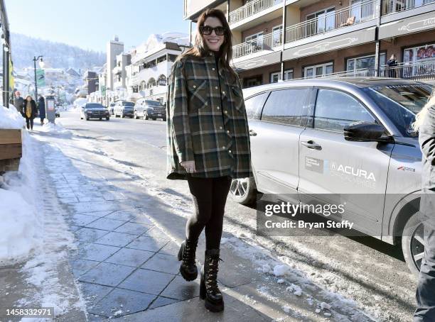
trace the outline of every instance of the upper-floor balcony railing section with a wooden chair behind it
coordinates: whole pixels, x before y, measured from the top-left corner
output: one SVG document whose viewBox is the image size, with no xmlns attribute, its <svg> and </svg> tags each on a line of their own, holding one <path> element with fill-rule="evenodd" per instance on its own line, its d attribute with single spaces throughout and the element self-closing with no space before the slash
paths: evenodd
<svg viewBox="0 0 435 322">
<path fill-rule="evenodd" d="M 376 0 L 363 1 L 286 28 L 286 43 L 376 18 Z"/>
</svg>

